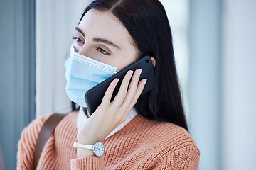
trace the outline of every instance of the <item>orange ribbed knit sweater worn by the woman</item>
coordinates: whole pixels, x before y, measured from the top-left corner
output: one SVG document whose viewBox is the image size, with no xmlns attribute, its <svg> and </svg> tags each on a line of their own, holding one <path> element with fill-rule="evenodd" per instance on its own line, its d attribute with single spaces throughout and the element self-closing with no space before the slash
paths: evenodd
<svg viewBox="0 0 256 170">
<path fill-rule="evenodd" d="M 43 116 L 25 128 L 18 142 L 18 169 L 33 168 L 33 152 Z M 76 158 L 78 112 L 58 123 L 46 143 L 37 169 L 197 169 L 199 149 L 186 130 L 137 115 L 103 142 L 102 157 Z"/>
</svg>

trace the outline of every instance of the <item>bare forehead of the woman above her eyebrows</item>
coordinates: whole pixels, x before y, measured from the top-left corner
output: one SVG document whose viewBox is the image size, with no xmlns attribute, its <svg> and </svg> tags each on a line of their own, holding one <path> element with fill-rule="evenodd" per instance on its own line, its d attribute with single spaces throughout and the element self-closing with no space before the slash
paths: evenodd
<svg viewBox="0 0 256 170">
<path fill-rule="evenodd" d="M 78 25 L 85 38 L 105 38 L 120 46 L 132 42 L 132 37 L 122 23 L 108 11 L 90 9 Z"/>
</svg>

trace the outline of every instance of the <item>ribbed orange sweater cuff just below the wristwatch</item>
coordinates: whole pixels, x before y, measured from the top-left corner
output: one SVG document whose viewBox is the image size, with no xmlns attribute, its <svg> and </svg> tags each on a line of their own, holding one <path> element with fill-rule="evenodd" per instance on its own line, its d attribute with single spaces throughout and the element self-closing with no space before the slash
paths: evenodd
<svg viewBox="0 0 256 170">
<path fill-rule="evenodd" d="M 71 160 L 72 170 L 102 170 L 105 169 L 103 157 L 85 157 Z"/>
</svg>

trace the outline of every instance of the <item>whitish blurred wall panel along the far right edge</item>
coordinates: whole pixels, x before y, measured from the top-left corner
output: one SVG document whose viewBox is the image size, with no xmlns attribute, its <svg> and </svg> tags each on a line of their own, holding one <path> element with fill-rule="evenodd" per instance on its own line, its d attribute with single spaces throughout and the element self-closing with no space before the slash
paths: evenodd
<svg viewBox="0 0 256 170">
<path fill-rule="evenodd" d="M 223 16 L 223 169 L 256 169 L 256 1 Z"/>
</svg>

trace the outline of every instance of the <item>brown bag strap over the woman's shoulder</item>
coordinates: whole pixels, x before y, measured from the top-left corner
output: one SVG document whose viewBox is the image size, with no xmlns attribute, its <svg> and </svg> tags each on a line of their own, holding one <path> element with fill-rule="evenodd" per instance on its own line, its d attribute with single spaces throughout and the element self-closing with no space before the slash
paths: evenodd
<svg viewBox="0 0 256 170">
<path fill-rule="evenodd" d="M 38 140 L 36 141 L 36 149 L 33 155 L 33 164 L 35 169 L 38 166 L 38 161 L 40 159 L 44 145 L 46 145 L 50 135 L 53 133 L 56 126 L 60 120 L 64 118 L 65 115 L 66 114 L 53 113 L 53 115 L 50 115 L 50 117 L 43 124 L 43 127 L 41 128 L 41 131 L 38 135 Z"/>
</svg>

